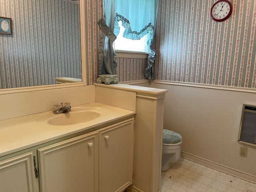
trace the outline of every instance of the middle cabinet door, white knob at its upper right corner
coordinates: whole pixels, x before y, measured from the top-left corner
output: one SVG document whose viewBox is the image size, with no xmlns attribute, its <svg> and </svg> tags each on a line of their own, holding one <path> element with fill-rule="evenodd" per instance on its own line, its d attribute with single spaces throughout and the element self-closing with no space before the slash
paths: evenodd
<svg viewBox="0 0 256 192">
<path fill-rule="evenodd" d="M 41 192 L 98 191 L 98 134 L 38 149 Z"/>
</svg>

